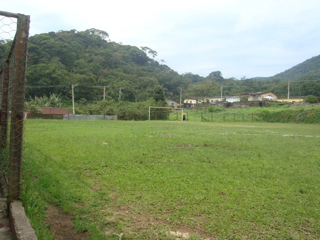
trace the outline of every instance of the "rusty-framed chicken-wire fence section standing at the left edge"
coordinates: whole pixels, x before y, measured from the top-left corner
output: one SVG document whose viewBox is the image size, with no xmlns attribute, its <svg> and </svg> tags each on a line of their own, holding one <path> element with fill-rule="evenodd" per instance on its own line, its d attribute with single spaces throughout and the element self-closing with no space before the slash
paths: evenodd
<svg viewBox="0 0 320 240">
<path fill-rule="evenodd" d="M 0 11 L 0 172 L 8 200 L 20 195 L 29 23 L 30 16 Z"/>
</svg>

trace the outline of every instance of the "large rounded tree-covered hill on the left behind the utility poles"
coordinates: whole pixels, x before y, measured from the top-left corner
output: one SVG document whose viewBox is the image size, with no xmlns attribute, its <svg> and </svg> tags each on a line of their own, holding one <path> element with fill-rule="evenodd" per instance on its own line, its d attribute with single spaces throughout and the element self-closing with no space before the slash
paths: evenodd
<svg viewBox="0 0 320 240">
<path fill-rule="evenodd" d="M 165 91 L 186 89 L 191 82 L 154 60 L 156 51 L 143 47 L 111 42 L 108 33 L 97 29 L 50 32 L 30 37 L 29 86 L 79 84 L 75 99 L 101 100 L 106 96 L 118 99 L 122 87 L 122 100 L 146 100 L 153 88 L 160 84 Z M 83 87 L 92 86 L 90 87 Z M 71 96 L 71 87 L 30 89 L 27 95 L 62 93 Z"/>
</svg>

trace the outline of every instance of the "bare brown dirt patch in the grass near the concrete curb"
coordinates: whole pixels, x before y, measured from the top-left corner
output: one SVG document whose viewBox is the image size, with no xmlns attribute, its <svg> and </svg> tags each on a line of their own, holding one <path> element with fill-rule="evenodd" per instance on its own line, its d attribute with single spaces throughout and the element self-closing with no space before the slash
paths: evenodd
<svg viewBox="0 0 320 240">
<path fill-rule="evenodd" d="M 50 226 L 50 232 L 57 240 L 87 240 L 87 233 L 79 233 L 73 224 L 73 216 L 70 213 L 63 213 L 57 206 L 47 210 L 46 224 Z"/>
</svg>

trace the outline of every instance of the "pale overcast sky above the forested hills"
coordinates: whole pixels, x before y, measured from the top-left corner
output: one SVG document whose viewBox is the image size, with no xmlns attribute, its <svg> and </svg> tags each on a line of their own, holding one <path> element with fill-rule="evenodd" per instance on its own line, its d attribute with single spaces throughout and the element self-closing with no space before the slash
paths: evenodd
<svg viewBox="0 0 320 240">
<path fill-rule="evenodd" d="M 158 52 L 181 73 L 273 76 L 320 54 L 320 1 L 2 1 L 30 35 L 89 28 Z"/>
</svg>

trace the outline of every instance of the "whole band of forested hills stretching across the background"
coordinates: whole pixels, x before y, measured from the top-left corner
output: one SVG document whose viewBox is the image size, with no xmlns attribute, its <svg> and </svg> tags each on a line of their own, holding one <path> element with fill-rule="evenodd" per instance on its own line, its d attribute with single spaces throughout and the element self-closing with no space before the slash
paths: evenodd
<svg viewBox="0 0 320 240">
<path fill-rule="evenodd" d="M 0 42 L 0 60 L 4 60 L 10 42 Z M 283 73 L 269 78 L 241 80 L 223 78 L 220 71 L 213 71 L 203 77 L 192 73 L 178 74 L 165 65 L 165 60 L 156 60 L 157 52 L 148 47 L 136 47 L 115 43 L 109 40 L 108 33 L 98 29 L 85 31 L 59 31 L 30 36 L 27 75 L 27 94 L 43 96 L 61 93 L 65 102 L 70 102 L 71 86 L 76 102 L 86 104 L 106 98 L 143 101 L 152 96 L 155 86 L 164 88 L 165 97 L 182 98 L 237 94 L 249 91 L 273 91 L 286 96 L 288 80 L 291 83 L 291 96 L 320 96 L 320 56 L 313 57 Z M 302 82 L 304 81 L 304 82 Z M 66 86 L 67 85 L 67 86 Z M 52 87 L 41 87 L 52 86 Z"/>
</svg>

